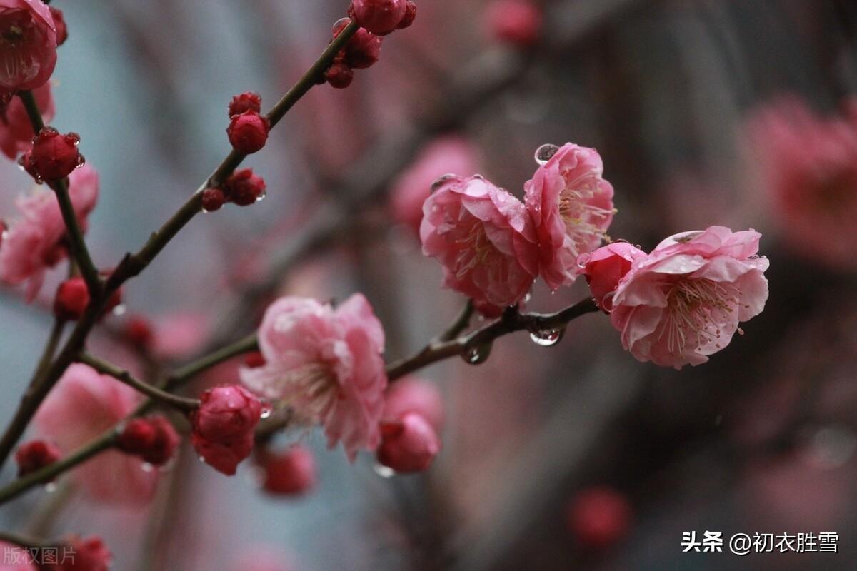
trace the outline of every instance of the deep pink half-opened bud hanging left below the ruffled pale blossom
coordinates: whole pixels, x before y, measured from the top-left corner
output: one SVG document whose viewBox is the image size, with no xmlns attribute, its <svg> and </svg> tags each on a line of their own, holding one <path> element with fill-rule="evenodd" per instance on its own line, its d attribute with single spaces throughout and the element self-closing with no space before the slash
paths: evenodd
<svg viewBox="0 0 857 571">
<path fill-rule="evenodd" d="M 208 465 L 231 476 L 253 450 L 262 403 L 237 384 L 209 389 L 200 400 L 190 415 L 190 442 Z"/>
</svg>

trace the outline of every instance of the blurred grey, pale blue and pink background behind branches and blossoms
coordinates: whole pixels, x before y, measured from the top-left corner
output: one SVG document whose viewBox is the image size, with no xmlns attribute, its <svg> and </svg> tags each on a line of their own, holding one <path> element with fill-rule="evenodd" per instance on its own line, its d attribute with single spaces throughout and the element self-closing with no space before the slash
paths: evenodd
<svg viewBox="0 0 857 571">
<path fill-rule="evenodd" d="M 101 193 L 87 241 L 102 266 L 136 249 L 229 150 L 231 96 L 269 109 L 315 60 L 345 0 L 76 0 L 53 93 Z M 246 162 L 267 199 L 196 217 L 125 291 L 93 346 L 163 370 L 234 341 L 268 300 L 362 291 L 387 359 L 445 329 L 414 232 L 430 182 L 480 172 L 521 196 L 543 143 L 601 153 L 609 234 L 645 250 L 674 232 L 758 229 L 770 300 L 709 363 L 638 363 L 602 314 L 551 348 L 525 333 L 481 366 L 419 372 L 444 396 L 443 451 L 417 476 L 350 465 L 317 432 L 303 497 L 227 479 L 192 450 L 145 501 L 66 478 L 0 509 L 4 529 L 99 534 L 117 569 L 853 569 L 857 560 L 857 4 L 850 0 L 418 3 L 413 27 L 345 90 L 314 88 Z M 516 11 L 518 10 L 518 11 Z M 0 215 L 32 181 L 0 161 Z M 416 217 L 416 218 L 415 218 Z M 63 271 L 32 305 L 0 296 L 0 418 L 51 326 Z M 51 281 L 52 280 L 52 281 Z M 552 311 L 587 294 L 541 284 Z M 122 330 L 155 330 L 146 360 Z M 234 382 L 234 364 L 189 389 Z M 142 468 L 141 468 L 142 469 Z M 3 481 L 14 476 L 12 462 Z M 119 489 L 117 493 L 117 488 Z M 836 553 L 683 553 L 683 532 L 835 532 Z M 775 550 L 776 551 L 776 550 Z M 262 565 L 268 565 L 262 567 Z"/>
</svg>

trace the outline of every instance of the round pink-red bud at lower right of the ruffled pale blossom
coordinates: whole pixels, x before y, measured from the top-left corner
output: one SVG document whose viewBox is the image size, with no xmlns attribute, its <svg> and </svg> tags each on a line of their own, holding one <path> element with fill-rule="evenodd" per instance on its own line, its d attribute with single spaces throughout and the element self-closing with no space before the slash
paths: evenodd
<svg viewBox="0 0 857 571">
<path fill-rule="evenodd" d="M 420 472 L 440 452 L 440 438 L 422 415 L 407 413 L 398 423 L 382 423 L 378 461 L 396 472 Z"/>
</svg>

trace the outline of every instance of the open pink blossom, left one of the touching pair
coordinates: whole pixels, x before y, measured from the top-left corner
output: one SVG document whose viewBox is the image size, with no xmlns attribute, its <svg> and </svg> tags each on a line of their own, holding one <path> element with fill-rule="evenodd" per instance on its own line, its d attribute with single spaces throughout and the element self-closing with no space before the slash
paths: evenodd
<svg viewBox="0 0 857 571">
<path fill-rule="evenodd" d="M 423 254 L 443 266 L 444 285 L 476 305 L 512 306 L 538 275 L 536 232 L 524 205 L 482 176 L 450 175 L 423 205 Z"/>
</svg>

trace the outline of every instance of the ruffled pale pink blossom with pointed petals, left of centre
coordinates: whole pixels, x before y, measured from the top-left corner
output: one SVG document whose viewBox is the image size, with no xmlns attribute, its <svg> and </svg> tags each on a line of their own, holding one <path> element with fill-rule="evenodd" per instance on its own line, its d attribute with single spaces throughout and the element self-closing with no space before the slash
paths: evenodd
<svg viewBox="0 0 857 571">
<path fill-rule="evenodd" d="M 323 425 L 328 445 L 341 442 L 351 461 L 358 449 L 378 446 L 384 330 L 363 295 L 336 309 L 280 298 L 262 318 L 259 348 L 265 365 L 241 370 L 250 390 L 287 403 L 305 424 Z"/>
</svg>

